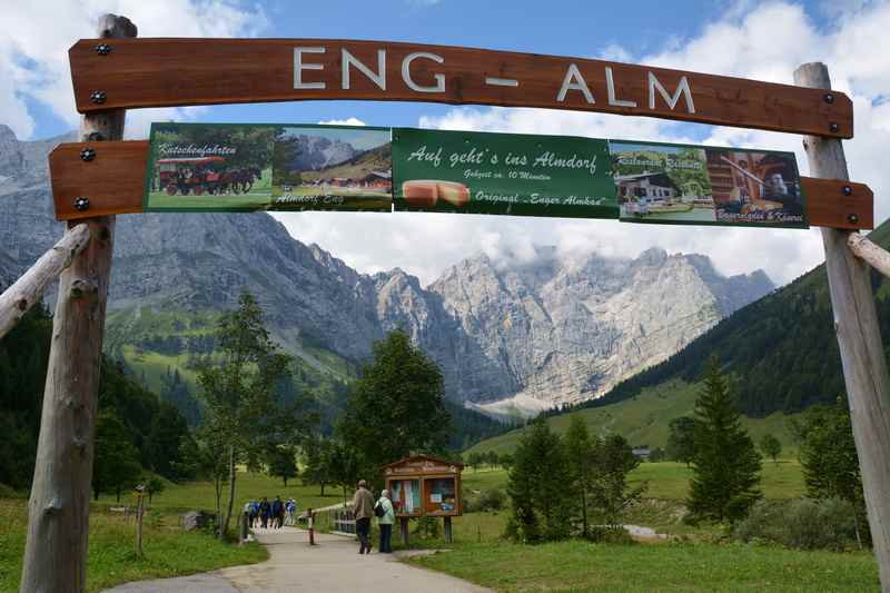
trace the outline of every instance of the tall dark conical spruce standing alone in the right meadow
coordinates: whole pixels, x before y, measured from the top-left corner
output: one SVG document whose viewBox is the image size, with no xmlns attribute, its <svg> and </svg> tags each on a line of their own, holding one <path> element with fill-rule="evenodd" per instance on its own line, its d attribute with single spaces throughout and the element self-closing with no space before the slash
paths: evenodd
<svg viewBox="0 0 890 593">
<path fill-rule="evenodd" d="M 693 478 L 686 502 L 694 517 L 735 521 L 761 497 L 760 454 L 740 416 L 729 382 L 712 358 L 695 401 Z"/>
</svg>

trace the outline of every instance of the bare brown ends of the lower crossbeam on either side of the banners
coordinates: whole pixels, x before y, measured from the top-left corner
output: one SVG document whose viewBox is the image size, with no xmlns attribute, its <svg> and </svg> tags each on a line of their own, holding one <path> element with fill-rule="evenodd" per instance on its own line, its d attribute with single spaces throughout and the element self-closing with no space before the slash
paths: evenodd
<svg viewBox="0 0 890 593">
<path fill-rule="evenodd" d="M 95 151 L 91 160 L 81 158 L 85 149 Z M 56 218 L 141 213 L 147 162 L 146 140 L 59 145 L 49 156 Z M 801 177 L 801 184 L 810 225 L 874 228 L 874 196 L 868 186 L 812 177 Z M 78 198 L 88 200 L 86 209 L 76 208 Z"/>
</svg>

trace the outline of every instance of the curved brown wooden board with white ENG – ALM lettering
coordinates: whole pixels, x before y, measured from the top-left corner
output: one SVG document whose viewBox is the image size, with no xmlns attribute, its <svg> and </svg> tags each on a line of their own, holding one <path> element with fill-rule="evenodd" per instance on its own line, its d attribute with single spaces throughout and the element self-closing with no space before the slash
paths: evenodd
<svg viewBox="0 0 890 593">
<path fill-rule="evenodd" d="M 81 40 L 77 108 L 319 99 L 544 107 L 850 138 L 837 91 L 535 53 L 388 41 Z"/>
</svg>

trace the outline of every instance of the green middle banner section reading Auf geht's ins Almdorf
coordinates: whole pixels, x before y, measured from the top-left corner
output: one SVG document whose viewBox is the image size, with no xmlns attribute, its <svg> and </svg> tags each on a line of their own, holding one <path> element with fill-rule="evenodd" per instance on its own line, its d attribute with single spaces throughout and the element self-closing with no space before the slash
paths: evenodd
<svg viewBox="0 0 890 593">
<path fill-rule="evenodd" d="M 605 140 L 395 128 L 393 161 L 396 210 L 617 218 Z"/>
</svg>

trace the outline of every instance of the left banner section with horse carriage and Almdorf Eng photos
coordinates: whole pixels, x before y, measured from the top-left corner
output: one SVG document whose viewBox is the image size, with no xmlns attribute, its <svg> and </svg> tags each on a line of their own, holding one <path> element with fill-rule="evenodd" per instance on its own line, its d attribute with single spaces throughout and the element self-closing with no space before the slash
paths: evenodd
<svg viewBox="0 0 890 593">
<path fill-rule="evenodd" d="M 152 123 L 145 211 L 392 210 L 389 128 Z"/>
</svg>

